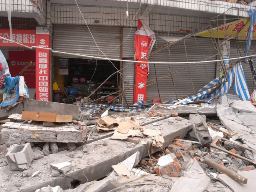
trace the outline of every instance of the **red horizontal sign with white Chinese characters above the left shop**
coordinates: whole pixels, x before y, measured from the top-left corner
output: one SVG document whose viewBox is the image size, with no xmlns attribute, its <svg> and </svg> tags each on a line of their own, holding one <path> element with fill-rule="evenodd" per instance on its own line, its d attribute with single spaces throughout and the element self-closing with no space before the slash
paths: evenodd
<svg viewBox="0 0 256 192">
<path fill-rule="evenodd" d="M 10 37 L 10 30 L 1 29 L 0 36 L 6 39 L 13 40 L 20 44 L 24 44 L 26 46 L 35 46 L 36 45 L 36 30 L 12 30 L 12 38 Z M 9 47 L 22 47 L 22 45 L 10 42 L 5 39 L 0 38 L 0 46 L 9 46 Z"/>
</svg>

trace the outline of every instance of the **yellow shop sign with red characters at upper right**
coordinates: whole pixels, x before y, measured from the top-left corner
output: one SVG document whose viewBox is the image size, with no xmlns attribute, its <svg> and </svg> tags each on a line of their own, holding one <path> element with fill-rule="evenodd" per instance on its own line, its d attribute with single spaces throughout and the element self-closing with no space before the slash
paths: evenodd
<svg viewBox="0 0 256 192">
<path fill-rule="evenodd" d="M 235 38 L 239 40 L 246 40 L 248 38 L 248 32 L 250 27 L 250 19 L 240 19 L 218 28 L 209 29 L 196 34 L 196 36 L 206 38 Z M 252 28 L 252 40 L 256 40 L 256 24 Z"/>
</svg>

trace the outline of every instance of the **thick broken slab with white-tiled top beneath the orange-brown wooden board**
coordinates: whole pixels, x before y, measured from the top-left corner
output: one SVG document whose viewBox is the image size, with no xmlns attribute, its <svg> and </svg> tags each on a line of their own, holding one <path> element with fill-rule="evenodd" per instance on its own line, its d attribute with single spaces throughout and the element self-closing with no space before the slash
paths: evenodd
<svg viewBox="0 0 256 192">
<path fill-rule="evenodd" d="M 28 124 L 6 122 L 2 125 L 1 136 L 7 136 L 6 145 L 23 144 L 25 142 L 85 142 L 88 130 L 76 129 L 73 124 L 56 124 L 44 127 L 42 122 Z"/>
</svg>

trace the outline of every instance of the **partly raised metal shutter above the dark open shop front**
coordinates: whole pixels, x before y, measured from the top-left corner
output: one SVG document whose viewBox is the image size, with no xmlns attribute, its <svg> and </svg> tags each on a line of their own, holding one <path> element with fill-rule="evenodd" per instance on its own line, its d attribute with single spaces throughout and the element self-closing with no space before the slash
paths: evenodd
<svg viewBox="0 0 256 192">
<path fill-rule="evenodd" d="M 89 28 L 90 31 L 87 26 L 82 25 L 55 25 L 52 35 L 53 50 L 99 57 L 105 57 L 105 54 L 109 58 L 119 59 L 121 28 L 114 26 L 89 26 Z M 53 56 L 80 58 L 80 56 L 54 52 Z"/>
</svg>

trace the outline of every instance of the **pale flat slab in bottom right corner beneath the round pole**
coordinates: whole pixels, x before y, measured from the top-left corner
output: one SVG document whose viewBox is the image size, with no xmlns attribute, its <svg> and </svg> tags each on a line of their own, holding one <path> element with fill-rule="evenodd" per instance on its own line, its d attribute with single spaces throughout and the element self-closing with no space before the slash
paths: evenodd
<svg viewBox="0 0 256 192">
<path fill-rule="evenodd" d="M 256 188 L 256 170 L 240 171 L 238 173 L 248 178 L 247 184 L 239 183 L 226 174 L 219 174 L 217 178 L 233 192 L 254 192 Z"/>
</svg>

